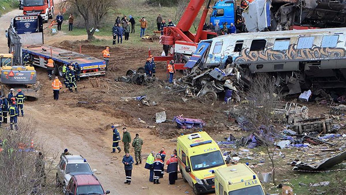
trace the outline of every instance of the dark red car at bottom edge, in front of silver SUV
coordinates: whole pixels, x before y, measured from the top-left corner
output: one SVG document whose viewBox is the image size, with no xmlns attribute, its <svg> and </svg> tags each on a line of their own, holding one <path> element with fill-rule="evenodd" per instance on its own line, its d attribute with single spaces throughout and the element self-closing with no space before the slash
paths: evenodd
<svg viewBox="0 0 346 195">
<path fill-rule="evenodd" d="M 65 195 L 82 195 L 82 194 L 109 194 L 109 190 L 104 192 L 100 181 L 94 175 L 75 175 L 72 176 L 67 185 Z"/>
</svg>

